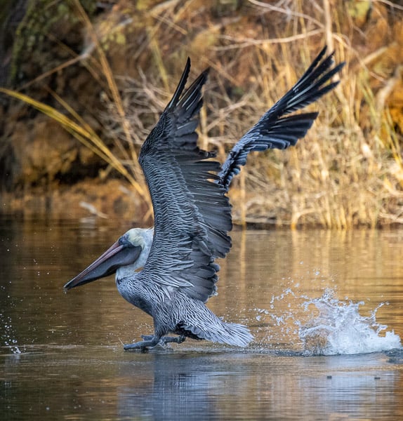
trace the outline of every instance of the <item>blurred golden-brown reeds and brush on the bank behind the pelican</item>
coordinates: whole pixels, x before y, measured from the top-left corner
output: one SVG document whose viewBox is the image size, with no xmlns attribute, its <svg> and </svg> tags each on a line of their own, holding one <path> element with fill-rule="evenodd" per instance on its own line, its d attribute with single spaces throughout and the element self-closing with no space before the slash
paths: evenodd
<svg viewBox="0 0 403 421">
<path fill-rule="evenodd" d="M 53 116 L 81 146 L 58 145 L 62 170 L 51 172 L 44 162 L 34 172 L 27 164 L 25 172 L 13 175 L 13 189 L 22 186 L 25 196 L 39 188 L 48 195 L 58 191 L 62 199 L 60 191 L 73 183 L 91 178 L 101 191 L 107 180 L 118 178 L 136 196 L 128 212 L 149 220 L 137 154 L 171 98 L 187 55 L 192 77 L 211 67 L 199 142 L 217 149 L 223 161 L 327 44 L 337 61 L 347 62 L 342 83 L 310 107 L 319 118 L 297 147 L 249 157 L 230 191 L 234 219 L 338 229 L 403 223 L 403 7 L 397 2 L 121 0 L 106 2 L 102 10 L 95 1 L 28 3 L 27 11 L 36 12 L 27 13 L 16 32 L 9 86 L 14 91 L 2 91 Z M 53 13 L 38 25 L 35 16 L 54 8 L 63 9 L 63 18 Z M 50 41 L 63 53 L 52 57 L 53 50 L 46 50 L 44 60 L 29 51 L 35 46 L 44 52 Z M 29 69 L 28 53 L 34 54 Z M 9 146 L 19 141 L 11 134 L 15 121 L 38 118 L 13 101 L 3 112 L 13 114 L 1 138 Z M 35 141 L 24 145 L 25 160 Z M 25 168 L 15 151 L 12 161 Z M 9 173 L 18 167 L 13 162 Z M 106 201 L 93 203 L 109 213 Z"/>
</svg>

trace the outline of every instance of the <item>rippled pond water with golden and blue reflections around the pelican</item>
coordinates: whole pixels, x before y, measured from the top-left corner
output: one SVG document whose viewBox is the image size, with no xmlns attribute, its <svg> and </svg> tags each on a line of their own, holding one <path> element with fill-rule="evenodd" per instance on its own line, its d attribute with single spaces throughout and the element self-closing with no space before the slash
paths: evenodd
<svg viewBox="0 0 403 421">
<path fill-rule="evenodd" d="M 234 232 L 209 307 L 252 345 L 152 333 L 114 279 L 62 286 L 128 227 L 0 220 L 1 420 L 397 420 L 403 231 Z"/>
</svg>

